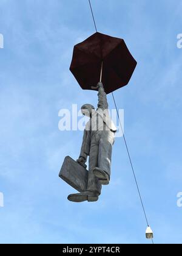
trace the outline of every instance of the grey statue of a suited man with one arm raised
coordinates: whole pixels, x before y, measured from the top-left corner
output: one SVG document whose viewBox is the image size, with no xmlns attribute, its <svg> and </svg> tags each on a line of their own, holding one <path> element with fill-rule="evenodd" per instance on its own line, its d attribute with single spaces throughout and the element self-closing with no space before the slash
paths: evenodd
<svg viewBox="0 0 182 256">
<path fill-rule="evenodd" d="M 87 190 L 83 193 L 70 194 L 72 202 L 95 202 L 101 194 L 102 185 L 108 185 L 110 180 L 110 164 L 112 146 L 115 140 L 116 127 L 109 116 L 107 96 L 103 84 L 98 83 L 98 108 L 90 104 L 81 107 L 81 112 L 90 118 L 84 130 L 81 153 L 77 162 L 86 168 L 89 156 L 89 175 Z"/>
</svg>

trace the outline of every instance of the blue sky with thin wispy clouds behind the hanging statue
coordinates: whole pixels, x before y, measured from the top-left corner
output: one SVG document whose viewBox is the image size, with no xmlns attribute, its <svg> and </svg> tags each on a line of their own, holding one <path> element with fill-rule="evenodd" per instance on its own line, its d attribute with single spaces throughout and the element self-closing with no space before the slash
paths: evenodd
<svg viewBox="0 0 182 256">
<path fill-rule="evenodd" d="M 138 62 L 115 91 L 155 243 L 182 242 L 180 0 L 92 0 L 99 32 L 124 38 Z M 87 0 L 1 0 L 0 243 L 150 243 L 123 138 L 98 202 L 73 204 L 58 177 L 83 133 L 58 130 L 61 108 L 96 105 L 69 71 L 73 46 L 95 32 Z M 112 97 L 108 96 L 110 108 Z"/>
</svg>

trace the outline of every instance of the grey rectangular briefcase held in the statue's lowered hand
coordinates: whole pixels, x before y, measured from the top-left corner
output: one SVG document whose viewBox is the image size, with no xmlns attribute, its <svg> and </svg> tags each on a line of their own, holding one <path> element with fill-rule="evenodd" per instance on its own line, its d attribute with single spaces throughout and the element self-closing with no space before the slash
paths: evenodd
<svg viewBox="0 0 182 256">
<path fill-rule="evenodd" d="M 86 191 L 88 171 L 71 157 L 64 158 L 59 177 L 79 192 Z"/>
</svg>

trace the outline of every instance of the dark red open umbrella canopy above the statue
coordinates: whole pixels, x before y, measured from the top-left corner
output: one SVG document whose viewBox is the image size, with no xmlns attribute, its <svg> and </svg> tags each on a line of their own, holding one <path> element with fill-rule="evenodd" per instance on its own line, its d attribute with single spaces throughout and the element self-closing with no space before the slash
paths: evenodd
<svg viewBox="0 0 182 256">
<path fill-rule="evenodd" d="M 102 63 L 106 93 L 127 85 L 137 64 L 123 39 L 96 32 L 74 46 L 70 71 L 81 88 L 92 90 L 99 82 Z"/>
</svg>

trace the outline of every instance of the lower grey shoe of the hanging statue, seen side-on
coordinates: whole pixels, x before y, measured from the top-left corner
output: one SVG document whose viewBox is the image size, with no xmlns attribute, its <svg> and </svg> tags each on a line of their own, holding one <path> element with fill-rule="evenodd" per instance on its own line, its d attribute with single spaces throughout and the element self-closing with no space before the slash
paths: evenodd
<svg viewBox="0 0 182 256">
<path fill-rule="evenodd" d="M 69 194 L 67 199 L 71 202 L 96 202 L 98 201 L 98 193 L 92 191 L 84 191 L 82 193 Z"/>
</svg>

